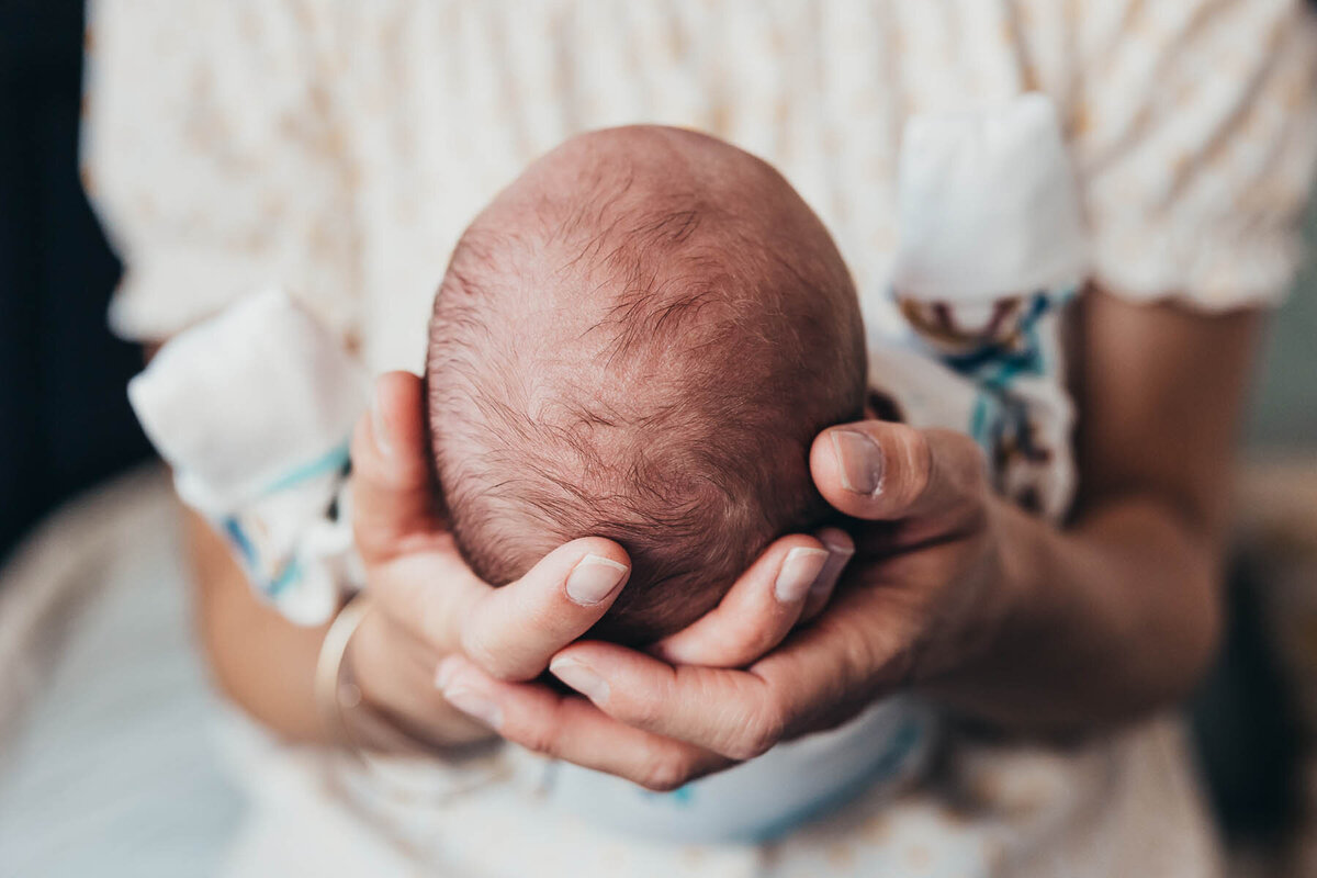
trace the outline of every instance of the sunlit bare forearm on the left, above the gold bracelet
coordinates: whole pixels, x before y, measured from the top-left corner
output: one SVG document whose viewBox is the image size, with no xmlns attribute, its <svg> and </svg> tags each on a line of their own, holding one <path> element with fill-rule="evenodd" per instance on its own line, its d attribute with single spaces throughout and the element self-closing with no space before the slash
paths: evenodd
<svg viewBox="0 0 1317 878">
<path fill-rule="evenodd" d="M 325 628 L 295 625 L 263 604 L 224 541 L 196 513 L 186 516 L 198 629 L 216 683 L 279 735 L 328 740 L 313 694 Z"/>
</svg>

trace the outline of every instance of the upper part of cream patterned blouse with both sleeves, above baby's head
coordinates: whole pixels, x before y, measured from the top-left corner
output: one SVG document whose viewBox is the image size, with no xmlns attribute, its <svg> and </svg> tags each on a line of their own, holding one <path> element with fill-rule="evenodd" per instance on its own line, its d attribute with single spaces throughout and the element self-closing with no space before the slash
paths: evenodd
<svg viewBox="0 0 1317 878">
<path fill-rule="evenodd" d="M 874 333 L 913 113 L 1042 91 L 1109 291 L 1275 303 L 1317 167 L 1299 0 L 140 0 L 90 4 L 83 179 L 162 340 L 277 278 L 419 370 L 457 236 L 574 132 L 689 125 L 780 167 Z"/>
</svg>

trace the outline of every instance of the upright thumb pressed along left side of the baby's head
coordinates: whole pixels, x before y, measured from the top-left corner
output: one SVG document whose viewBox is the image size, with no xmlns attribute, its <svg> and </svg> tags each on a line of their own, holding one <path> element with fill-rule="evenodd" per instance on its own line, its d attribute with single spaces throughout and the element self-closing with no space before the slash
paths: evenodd
<svg viewBox="0 0 1317 878">
<path fill-rule="evenodd" d="M 386 561 L 408 538 L 441 528 L 423 405 L 420 378 L 386 373 L 353 430 L 353 532 L 366 563 Z"/>
</svg>

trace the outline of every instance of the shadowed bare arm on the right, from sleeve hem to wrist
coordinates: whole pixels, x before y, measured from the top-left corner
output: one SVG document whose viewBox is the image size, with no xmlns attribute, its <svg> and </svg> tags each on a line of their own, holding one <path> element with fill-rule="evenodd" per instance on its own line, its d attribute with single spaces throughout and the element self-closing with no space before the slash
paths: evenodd
<svg viewBox="0 0 1317 878">
<path fill-rule="evenodd" d="M 1006 620 L 939 681 L 979 716 L 1039 731 L 1181 696 L 1222 627 L 1235 425 L 1259 315 L 1081 300 L 1079 512 L 1055 530 L 998 503 Z"/>
</svg>

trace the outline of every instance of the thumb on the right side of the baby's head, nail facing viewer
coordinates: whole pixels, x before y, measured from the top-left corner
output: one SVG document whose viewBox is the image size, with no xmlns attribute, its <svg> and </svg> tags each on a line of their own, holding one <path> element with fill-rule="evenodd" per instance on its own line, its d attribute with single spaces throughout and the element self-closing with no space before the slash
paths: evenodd
<svg viewBox="0 0 1317 878">
<path fill-rule="evenodd" d="M 810 471 L 840 512 L 868 521 L 938 515 L 976 502 L 986 467 L 963 433 L 890 421 L 832 426 L 814 440 Z"/>
</svg>

